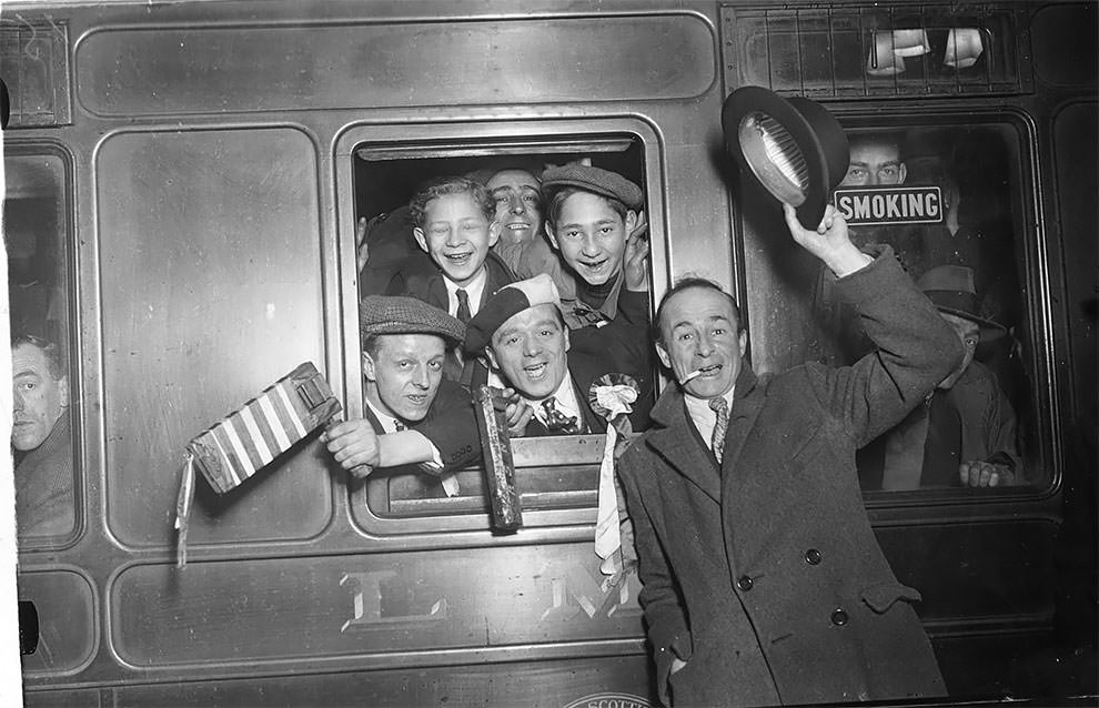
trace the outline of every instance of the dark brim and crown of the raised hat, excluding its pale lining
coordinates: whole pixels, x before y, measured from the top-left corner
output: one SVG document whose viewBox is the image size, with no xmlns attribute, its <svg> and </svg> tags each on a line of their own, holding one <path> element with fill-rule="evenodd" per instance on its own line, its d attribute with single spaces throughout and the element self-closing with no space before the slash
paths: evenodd
<svg viewBox="0 0 1099 708">
<path fill-rule="evenodd" d="M 801 151 L 808 173 L 808 189 L 805 190 L 805 200 L 793 206 L 803 226 L 816 229 L 828 205 L 833 186 L 831 178 L 836 171 L 829 170 L 829 158 L 835 162 L 836 155 L 839 153 L 846 155 L 848 151 L 847 138 L 843 128 L 826 109 L 813 101 L 804 100 L 795 104 L 762 87 L 737 89 L 725 99 L 725 104 L 722 107 L 722 130 L 725 133 L 726 150 L 754 176 L 756 176 L 756 170 L 745 156 L 738 135 L 743 121 L 755 113 L 764 113 L 777 121 L 789 132 L 790 138 Z M 828 121 L 834 125 L 829 124 Z M 818 125 L 814 125 L 814 122 Z M 838 138 L 837 134 L 820 134 L 836 133 L 837 130 Z M 826 149 L 826 140 L 828 149 Z M 846 173 L 846 160 L 844 160 L 843 169 Z M 756 179 L 758 180 L 758 176 Z M 766 185 L 764 186 L 766 188 Z M 769 189 L 767 191 L 770 192 Z"/>
</svg>

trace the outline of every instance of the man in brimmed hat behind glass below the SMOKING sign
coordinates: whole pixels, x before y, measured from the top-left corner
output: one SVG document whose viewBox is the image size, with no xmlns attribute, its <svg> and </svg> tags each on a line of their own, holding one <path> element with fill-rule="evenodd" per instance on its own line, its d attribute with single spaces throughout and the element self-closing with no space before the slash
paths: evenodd
<svg viewBox="0 0 1099 708">
<path fill-rule="evenodd" d="M 896 492 L 1026 484 L 1015 411 L 992 371 L 974 361 L 977 344 L 999 338 L 1005 328 L 978 313 L 968 267 L 931 269 L 917 285 L 961 340 L 966 354 L 897 427 L 861 452 L 864 487 Z M 883 461 L 875 465 L 877 455 Z M 867 469 L 880 469 L 880 483 L 868 478 Z"/>
</svg>

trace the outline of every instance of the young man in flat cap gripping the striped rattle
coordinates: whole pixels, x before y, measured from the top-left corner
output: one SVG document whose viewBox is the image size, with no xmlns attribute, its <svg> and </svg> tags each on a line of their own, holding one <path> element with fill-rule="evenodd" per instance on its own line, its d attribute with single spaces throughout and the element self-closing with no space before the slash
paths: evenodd
<svg viewBox="0 0 1099 708">
<path fill-rule="evenodd" d="M 366 417 L 325 431 L 336 462 L 356 477 L 407 464 L 438 476 L 475 459 L 472 398 L 443 378 L 447 348 L 465 337 L 462 323 L 414 297 L 370 295 L 360 304 L 360 331 Z M 456 493 L 452 477 L 443 483 Z"/>
</svg>

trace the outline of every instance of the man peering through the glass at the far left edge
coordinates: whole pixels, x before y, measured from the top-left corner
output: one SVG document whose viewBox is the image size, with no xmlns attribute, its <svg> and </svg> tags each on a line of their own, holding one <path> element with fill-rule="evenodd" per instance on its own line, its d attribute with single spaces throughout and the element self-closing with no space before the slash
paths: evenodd
<svg viewBox="0 0 1099 708">
<path fill-rule="evenodd" d="M 11 343 L 16 516 L 19 538 L 72 530 L 69 381 L 58 346 L 30 335 Z"/>
</svg>

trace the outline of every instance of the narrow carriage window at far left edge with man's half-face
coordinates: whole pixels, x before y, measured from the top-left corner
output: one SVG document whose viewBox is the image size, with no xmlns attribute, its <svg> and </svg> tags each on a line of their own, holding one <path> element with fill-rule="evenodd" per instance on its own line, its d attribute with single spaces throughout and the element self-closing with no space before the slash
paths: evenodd
<svg viewBox="0 0 1099 708">
<path fill-rule="evenodd" d="M 77 391 L 69 365 L 65 166 L 53 154 L 10 150 L 3 234 L 11 322 L 16 517 L 20 544 L 75 528 Z"/>
</svg>

